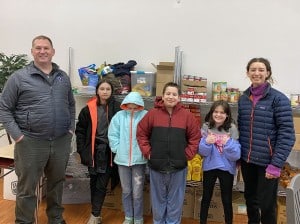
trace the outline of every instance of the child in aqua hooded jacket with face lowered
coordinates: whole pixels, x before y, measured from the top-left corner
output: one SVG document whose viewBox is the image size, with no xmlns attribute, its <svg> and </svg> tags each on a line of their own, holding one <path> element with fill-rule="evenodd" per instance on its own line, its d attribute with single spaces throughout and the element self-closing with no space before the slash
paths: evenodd
<svg viewBox="0 0 300 224">
<path fill-rule="evenodd" d="M 108 128 L 111 151 L 116 153 L 122 186 L 125 213 L 123 224 L 143 224 L 143 186 L 147 160 L 136 140 L 139 121 L 147 113 L 138 92 L 129 93 L 121 104 L 121 111 L 114 115 Z"/>
</svg>

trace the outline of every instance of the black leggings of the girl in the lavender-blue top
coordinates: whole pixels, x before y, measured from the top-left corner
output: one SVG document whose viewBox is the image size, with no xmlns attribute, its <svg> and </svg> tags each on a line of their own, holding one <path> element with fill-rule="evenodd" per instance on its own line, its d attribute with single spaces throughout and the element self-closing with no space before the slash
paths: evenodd
<svg viewBox="0 0 300 224">
<path fill-rule="evenodd" d="M 201 209 L 200 209 L 200 224 L 207 223 L 209 205 L 213 195 L 217 178 L 219 179 L 220 182 L 225 223 L 232 224 L 232 220 L 233 220 L 232 187 L 233 187 L 234 176 L 230 174 L 228 171 L 223 171 L 219 169 L 203 172 L 203 196 L 201 200 Z"/>
</svg>

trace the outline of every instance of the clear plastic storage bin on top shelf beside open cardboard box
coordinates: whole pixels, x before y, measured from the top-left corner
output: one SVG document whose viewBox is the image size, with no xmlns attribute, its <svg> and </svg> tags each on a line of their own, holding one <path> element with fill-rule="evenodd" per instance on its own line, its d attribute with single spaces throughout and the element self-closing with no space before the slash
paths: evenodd
<svg viewBox="0 0 300 224">
<path fill-rule="evenodd" d="M 154 72 L 131 71 L 131 91 L 141 96 L 153 96 L 155 84 Z"/>
</svg>

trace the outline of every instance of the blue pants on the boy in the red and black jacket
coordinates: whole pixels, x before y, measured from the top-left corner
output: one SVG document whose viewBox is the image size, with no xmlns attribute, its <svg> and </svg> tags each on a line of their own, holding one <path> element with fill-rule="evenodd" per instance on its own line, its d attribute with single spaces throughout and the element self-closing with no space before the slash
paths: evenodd
<svg viewBox="0 0 300 224">
<path fill-rule="evenodd" d="M 150 194 L 154 224 L 180 224 L 187 169 L 160 173 L 150 169 Z"/>
</svg>

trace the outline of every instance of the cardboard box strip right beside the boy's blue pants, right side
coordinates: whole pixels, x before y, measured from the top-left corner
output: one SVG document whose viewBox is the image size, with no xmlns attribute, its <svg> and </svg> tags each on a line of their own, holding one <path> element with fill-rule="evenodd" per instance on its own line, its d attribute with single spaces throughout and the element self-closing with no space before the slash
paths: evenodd
<svg viewBox="0 0 300 224">
<path fill-rule="evenodd" d="M 182 217 L 194 218 L 194 206 L 195 206 L 195 188 L 186 187 L 184 201 L 183 201 Z"/>
</svg>

